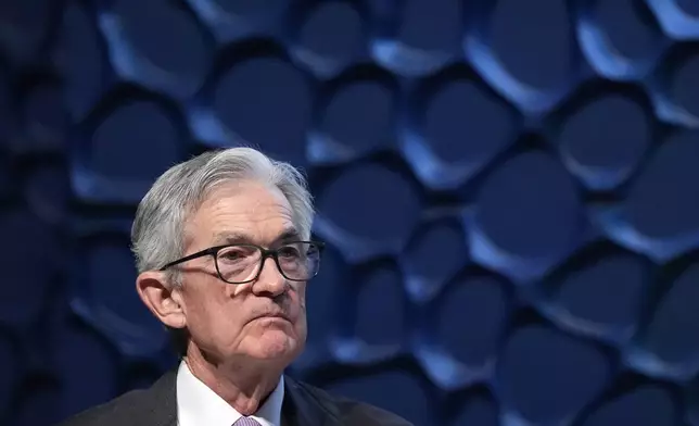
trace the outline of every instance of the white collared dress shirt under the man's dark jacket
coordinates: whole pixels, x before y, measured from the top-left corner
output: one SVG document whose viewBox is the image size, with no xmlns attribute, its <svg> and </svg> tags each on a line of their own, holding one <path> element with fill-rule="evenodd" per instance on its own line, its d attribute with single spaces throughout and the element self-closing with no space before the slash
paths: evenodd
<svg viewBox="0 0 699 426">
<path fill-rule="evenodd" d="M 281 425 L 284 377 L 251 417 L 262 426 Z M 231 426 L 242 414 L 194 377 L 185 361 L 177 371 L 177 424 L 179 426 Z"/>
</svg>

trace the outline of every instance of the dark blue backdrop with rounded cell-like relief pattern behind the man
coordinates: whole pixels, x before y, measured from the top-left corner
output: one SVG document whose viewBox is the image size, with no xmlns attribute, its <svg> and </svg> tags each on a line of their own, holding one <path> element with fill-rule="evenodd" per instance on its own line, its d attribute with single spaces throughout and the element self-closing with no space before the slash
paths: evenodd
<svg viewBox="0 0 699 426">
<path fill-rule="evenodd" d="M 698 4 L 0 2 L 0 423 L 174 365 L 135 205 L 244 142 L 330 247 L 290 374 L 417 425 L 699 425 Z"/>
</svg>

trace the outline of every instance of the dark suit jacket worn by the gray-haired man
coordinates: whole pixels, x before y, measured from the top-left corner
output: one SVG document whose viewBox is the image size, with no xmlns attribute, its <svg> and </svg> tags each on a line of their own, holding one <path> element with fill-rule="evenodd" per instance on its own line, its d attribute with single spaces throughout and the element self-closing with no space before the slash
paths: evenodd
<svg viewBox="0 0 699 426">
<path fill-rule="evenodd" d="M 176 377 L 177 371 L 170 371 L 149 389 L 127 392 L 59 426 L 177 426 Z M 281 417 L 288 426 L 411 426 L 395 414 L 333 397 L 288 376 Z"/>
</svg>

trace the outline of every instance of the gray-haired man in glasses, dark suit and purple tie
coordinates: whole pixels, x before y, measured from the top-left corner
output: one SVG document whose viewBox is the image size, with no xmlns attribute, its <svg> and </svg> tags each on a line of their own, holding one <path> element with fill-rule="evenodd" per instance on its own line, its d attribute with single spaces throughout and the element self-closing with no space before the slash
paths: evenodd
<svg viewBox="0 0 699 426">
<path fill-rule="evenodd" d="M 250 148 L 207 152 L 163 174 L 131 230 L 149 310 L 181 362 L 63 426 L 409 425 L 283 375 L 306 340 L 306 284 L 322 243 L 291 165 Z"/>
</svg>

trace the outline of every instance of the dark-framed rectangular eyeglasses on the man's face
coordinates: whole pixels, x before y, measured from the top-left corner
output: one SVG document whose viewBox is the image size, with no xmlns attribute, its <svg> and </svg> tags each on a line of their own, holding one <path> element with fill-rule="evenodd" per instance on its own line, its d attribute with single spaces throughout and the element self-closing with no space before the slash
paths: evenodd
<svg viewBox="0 0 699 426">
<path fill-rule="evenodd" d="M 292 281 L 305 281 L 318 274 L 320 252 L 325 247 L 320 241 L 294 241 L 269 250 L 255 245 L 225 245 L 211 247 L 196 253 L 170 262 L 165 271 L 192 259 L 211 255 L 216 264 L 218 277 L 228 284 L 245 284 L 256 280 L 267 258 L 272 258 L 281 275 Z"/>
</svg>

